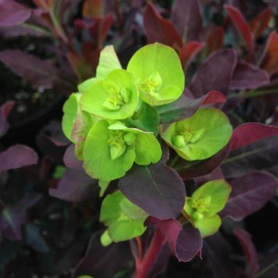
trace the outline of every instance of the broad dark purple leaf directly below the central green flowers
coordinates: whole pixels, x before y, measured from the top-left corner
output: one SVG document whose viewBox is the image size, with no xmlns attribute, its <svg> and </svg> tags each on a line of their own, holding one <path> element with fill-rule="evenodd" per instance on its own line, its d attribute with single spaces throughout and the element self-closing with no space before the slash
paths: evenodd
<svg viewBox="0 0 278 278">
<path fill-rule="evenodd" d="M 137 166 L 119 180 L 123 195 L 150 216 L 176 218 L 184 206 L 185 188 L 182 179 L 165 159 L 150 166 Z"/>
</svg>

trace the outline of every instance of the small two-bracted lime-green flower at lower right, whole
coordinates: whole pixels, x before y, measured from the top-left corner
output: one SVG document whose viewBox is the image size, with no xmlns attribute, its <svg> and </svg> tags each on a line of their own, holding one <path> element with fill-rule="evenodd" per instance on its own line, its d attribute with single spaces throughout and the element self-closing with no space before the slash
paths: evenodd
<svg viewBox="0 0 278 278">
<path fill-rule="evenodd" d="M 218 231 L 221 211 L 229 198 L 232 188 L 225 180 L 212 180 L 200 186 L 191 197 L 186 197 L 183 214 L 202 237 Z"/>
</svg>

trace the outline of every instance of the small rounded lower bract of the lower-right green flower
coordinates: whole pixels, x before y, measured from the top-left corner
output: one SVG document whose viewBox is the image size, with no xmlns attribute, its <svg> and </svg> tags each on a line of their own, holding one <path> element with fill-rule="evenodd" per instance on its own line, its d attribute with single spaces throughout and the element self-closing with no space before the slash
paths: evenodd
<svg viewBox="0 0 278 278">
<path fill-rule="evenodd" d="M 199 229 L 201 236 L 211 236 L 215 234 L 221 226 L 221 218 L 218 214 L 210 217 L 204 217 L 195 223 L 195 227 Z"/>
</svg>

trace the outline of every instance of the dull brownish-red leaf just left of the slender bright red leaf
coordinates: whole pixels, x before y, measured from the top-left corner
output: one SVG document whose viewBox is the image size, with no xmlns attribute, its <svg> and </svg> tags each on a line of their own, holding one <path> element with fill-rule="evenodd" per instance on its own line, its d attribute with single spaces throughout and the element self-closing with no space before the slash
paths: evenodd
<svg viewBox="0 0 278 278">
<path fill-rule="evenodd" d="M 224 35 L 225 33 L 223 27 L 216 27 L 213 31 L 211 31 L 206 40 L 206 56 L 209 56 L 211 53 L 223 48 Z"/>
</svg>

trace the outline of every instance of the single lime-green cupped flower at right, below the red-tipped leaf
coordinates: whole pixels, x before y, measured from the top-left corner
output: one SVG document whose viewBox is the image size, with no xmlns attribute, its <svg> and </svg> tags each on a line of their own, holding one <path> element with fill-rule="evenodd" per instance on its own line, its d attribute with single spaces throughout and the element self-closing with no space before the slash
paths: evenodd
<svg viewBox="0 0 278 278">
<path fill-rule="evenodd" d="M 207 159 L 229 141 L 232 125 L 227 116 L 214 108 L 201 109 L 188 119 L 172 123 L 162 138 L 183 159 Z"/>
</svg>

